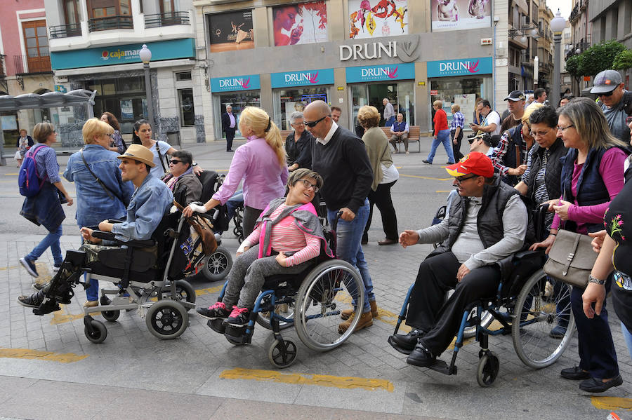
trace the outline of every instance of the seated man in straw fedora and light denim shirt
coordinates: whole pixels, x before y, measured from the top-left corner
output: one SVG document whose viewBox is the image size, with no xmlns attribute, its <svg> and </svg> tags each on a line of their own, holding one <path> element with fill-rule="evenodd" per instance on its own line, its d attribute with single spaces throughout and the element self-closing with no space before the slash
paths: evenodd
<svg viewBox="0 0 632 420">
<path fill-rule="evenodd" d="M 149 149 L 140 144 L 132 144 L 118 158 L 121 159 L 121 178 L 124 182 L 133 182 L 136 191 L 131 196 L 124 222 L 112 223 L 104 220 L 100 222 L 99 230 L 111 232 L 110 236 L 117 241 L 129 243 L 148 240 L 171 207 L 173 195 L 164 182 L 150 174 L 150 168 L 155 163 Z M 79 282 L 81 276 L 81 266 L 98 262 L 101 251 L 116 249 L 107 246 L 108 241 L 93 236 L 93 232 L 93 229 L 82 227 L 84 245 L 81 245 L 79 252 L 68 251 L 53 279 L 38 292 L 18 297 L 18 303 L 35 308 L 34 313 L 37 315 L 58 311 L 60 303 L 69 304 L 74 295 L 72 286 Z M 154 247 L 146 250 L 155 253 L 156 250 L 152 248 Z"/>
</svg>

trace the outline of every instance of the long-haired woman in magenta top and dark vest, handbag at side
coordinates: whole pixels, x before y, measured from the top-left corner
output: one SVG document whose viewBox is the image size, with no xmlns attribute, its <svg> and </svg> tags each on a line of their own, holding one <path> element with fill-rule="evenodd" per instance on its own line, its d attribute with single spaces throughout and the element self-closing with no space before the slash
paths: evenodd
<svg viewBox="0 0 632 420">
<path fill-rule="evenodd" d="M 558 136 L 569 149 L 560 161 L 562 197 L 553 205 L 555 217 L 549 236 L 532 248 L 546 248 L 548 253 L 555 243 L 558 229 L 577 233 L 595 233 L 603 229 L 604 213 L 610 201 L 624 186 L 621 168 L 628 156 L 621 142 L 610 134 L 603 111 L 593 100 L 578 97 L 560 108 Z M 593 278 L 610 291 L 612 275 Z M 591 280 L 591 281 L 593 281 Z M 582 391 L 599 393 L 623 383 L 617 365 L 617 353 L 608 324 L 605 302 L 600 316 L 584 316 L 581 294 L 573 287 L 571 309 L 577 323 L 579 366 L 562 370 L 566 379 L 583 379 Z"/>
</svg>

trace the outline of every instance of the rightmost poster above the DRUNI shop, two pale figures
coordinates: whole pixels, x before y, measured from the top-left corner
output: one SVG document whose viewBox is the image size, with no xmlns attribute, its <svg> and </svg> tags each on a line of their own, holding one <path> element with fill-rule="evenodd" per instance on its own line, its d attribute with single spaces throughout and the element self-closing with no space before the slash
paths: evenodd
<svg viewBox="0 0 632 420">
<path fill-rule="evenodd" d="M 491 0 L 430 0 L 433 32 L 492 26 Z"/>
</svg>

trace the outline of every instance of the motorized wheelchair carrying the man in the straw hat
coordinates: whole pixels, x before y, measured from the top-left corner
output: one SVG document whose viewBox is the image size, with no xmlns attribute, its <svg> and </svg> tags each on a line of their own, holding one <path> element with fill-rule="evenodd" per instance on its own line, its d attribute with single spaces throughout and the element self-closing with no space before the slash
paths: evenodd
<svg viewBox="0 0 632 420">
<path fill-rule="evenodd" d="M 180 337 L 189 325 L 187 311 L 195 309 L 196 298 L 195 290 L 184 280 L 187 255 L 183 247 L 190 236 L 185 221 L 181 212 L 165 215 L 152 238 L 144 241 L 123 242 L 114 238 L 114 233 L 93 231 L 94 237 L 126 248 L 100 250 L 98 261 L 87 263 L 86 252 L 67 251 L 44 302 L 33 312 L 44 315 L 58 311 L 60 303 L 70 303 L 72 289 L 78 284 L 87 288 L 92 279 L 103 280 L 117 287 L 102 289 L 99 305 L 84 308 L 84 334 L 89 341 L 102 343 L 107 337 L 105 323 L 94 319 L 93 314 L 100 313 L 114 322 L 121 311 L 137 311 L 159 339 Z M 85 282 L 80 280 L 82 273 L 86 273 Z"/>
</svg>

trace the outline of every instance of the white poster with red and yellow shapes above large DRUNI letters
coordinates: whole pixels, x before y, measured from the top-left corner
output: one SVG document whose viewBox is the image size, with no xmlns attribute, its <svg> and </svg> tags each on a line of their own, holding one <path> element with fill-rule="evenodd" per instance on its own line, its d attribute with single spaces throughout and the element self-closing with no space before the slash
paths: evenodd
<svg viewBox="0 0 632 420">
<path fill-rule="evenodd" d="M 408 34 L 408 0 L 348 1 L 350 39 Z"/>
</svg>

